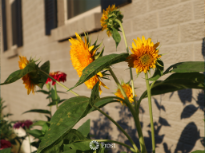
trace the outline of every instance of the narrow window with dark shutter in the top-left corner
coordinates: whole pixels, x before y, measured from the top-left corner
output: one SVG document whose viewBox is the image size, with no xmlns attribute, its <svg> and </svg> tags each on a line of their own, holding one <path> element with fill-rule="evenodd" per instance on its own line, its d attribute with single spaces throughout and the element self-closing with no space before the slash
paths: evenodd
<svg viewBox="0 0 205 153">
<path fill-rule="evenodd" d="M 5 52 L 23 46 L 21 0 L 2 0 L 1 6 L 3 51 Z M 12 32 L 9 36 L 8 31 Z"/>
</svg>

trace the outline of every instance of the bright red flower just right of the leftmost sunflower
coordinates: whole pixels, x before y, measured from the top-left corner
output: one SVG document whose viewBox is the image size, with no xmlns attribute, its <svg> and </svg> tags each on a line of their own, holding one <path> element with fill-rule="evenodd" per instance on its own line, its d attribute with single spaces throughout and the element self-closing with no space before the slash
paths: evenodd
<svg viewBox="0 0 205 153">
<path fill-rule="evenodd" d="M 59 71 L 57 71 L 57 72 L 51 72 L 51 73 L 49 73 L 49 75 L 51 76 L 51 77 L 53 77 L 55 80 L 57 80 L 58 82 L 64 82 L 64 81 L 66 81 L 66 76 L 67 76 L 67 74 L 65 74 L 65 73 L 63 73 L 63 72 L 59 72 Z M 48 78 L 47 80 L 46 80 L 46 84 L 48 83 L 48 82 L 51 82 L 52 80 L 51 80 L 51 78 Z M 56 82 L 55 81 L 52 81 L 52 85 L 55 85 L 56 84 Z"/>
</svg>

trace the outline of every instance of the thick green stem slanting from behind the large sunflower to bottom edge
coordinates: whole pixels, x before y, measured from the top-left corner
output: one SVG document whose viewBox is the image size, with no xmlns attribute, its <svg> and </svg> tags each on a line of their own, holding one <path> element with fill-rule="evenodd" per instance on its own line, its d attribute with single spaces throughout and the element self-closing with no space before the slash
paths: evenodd
<svg viewBox="0 0 205 153">
<path fill-rule="evenodd" d="M 142 134 L 142 128 L 141 128 L 141 125 L 140 125 L 140 121 L 139 121 L 139 117 L 138 117 L 138 114 L 137 112 L 134 110 L 134 107 L 131 105 L 131 103 L 129 102 L 128 98 L 127 98 L 127 95 L 125 94 L 122 86 L 120 85 L 117 77 L 115 76 L 114 72 L 112 71 L 112 69 L 110 68 L 110 74 L 112 75 L 113 79 L 115 80 L 118 88 L 120 89 L 123 97 L 125 98 L 125 103 L 127 105 L 127 107 L 130 109 L 131 113 L 132 113 L 132 116 L 135 120 L 135 126 L 137 128 L 137 132 L 138 132 L 138 135 L 139 135 L 139 142 L 140 142 L 140 149 L 141 149 L 141 152 L 142 153 L 147 153 L 147 150 L 146 150 L 146 147 L 145 147 L 145 142 L 144 142 L 144 138 L 143 138 L 143 134 Z"/>
</svg>

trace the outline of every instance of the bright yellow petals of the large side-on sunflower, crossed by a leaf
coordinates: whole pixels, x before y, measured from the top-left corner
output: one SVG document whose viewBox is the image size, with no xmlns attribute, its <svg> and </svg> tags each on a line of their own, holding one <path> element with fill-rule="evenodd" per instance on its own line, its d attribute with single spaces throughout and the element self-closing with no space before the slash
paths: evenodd
<svg viewBox="0 0 205 153">
<path fill-rule="evenodd" d="M 96 50 L 92 51 L 94 45 L 90 46 L 90 44 L 87 42 L 86 37 L 84 37 L 85 38 L 85 42 L 84 42 L 77 33 L 75 33 L 75 35 L 77 39 L 73 39 L 73 38 L 69 39 L 71 43 L 70 56 L 71 56 L 71 61 L 74 69 L 76 69 L 78 76 L 81 77 L 83 69 L 94 61 L 94 55 Z M 92 89 L 95 86 L 95 84 L 99 81 L 100 93 L 102 92 L 100 88 L 101 85 L 108 89 L 108 87 L 100 81 L 99 77 L 102 77 L 101 72 L 99 72 L 97 75 L 87 80 L 85 82 L 87 88 Z"/>
</svg>

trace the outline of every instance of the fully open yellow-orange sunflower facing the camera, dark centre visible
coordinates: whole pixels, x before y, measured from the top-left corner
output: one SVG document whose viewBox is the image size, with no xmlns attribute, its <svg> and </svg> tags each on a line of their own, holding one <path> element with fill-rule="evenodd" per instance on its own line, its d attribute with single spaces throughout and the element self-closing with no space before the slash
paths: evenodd
<svg viewBox="0 0 205 153">
<path fill-rule="evenodd" d="M 159 42 L 154 44 L 151 38 L 146 40 L 144 36 L 142 40 L 139 37 L 134 39 L 134 42 L 136 45 L 132 43 L 132 54 L 127 58 L 128 66 L 136 68 L 137 74 L 142 71 L 147 73 L 150 68 L 156 68 L 156 62 L 161 57 L 157 49 Z"/>
</svg>

